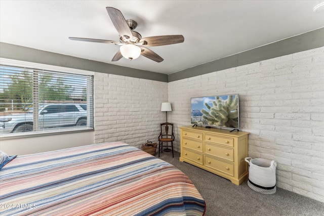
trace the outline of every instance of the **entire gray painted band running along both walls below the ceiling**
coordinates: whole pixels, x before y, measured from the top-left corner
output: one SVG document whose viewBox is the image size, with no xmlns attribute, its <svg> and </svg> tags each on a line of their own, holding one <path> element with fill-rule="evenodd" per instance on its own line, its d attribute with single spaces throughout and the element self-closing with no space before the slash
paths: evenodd
<svg viewBox="0 0 324 216">
<path fill-rule="evenodd" d="M 0 42 L 0 57 L 163 82 L 198 76 L 324 46 L 324 28 L 238 53 L 172 74 L 133 69 Z"/>
</svg>

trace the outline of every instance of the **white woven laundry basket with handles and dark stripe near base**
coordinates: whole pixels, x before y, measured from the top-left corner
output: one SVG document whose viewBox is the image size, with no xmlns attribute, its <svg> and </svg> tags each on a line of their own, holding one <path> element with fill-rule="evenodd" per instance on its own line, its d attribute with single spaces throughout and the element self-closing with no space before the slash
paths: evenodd
<svg viewBox="0 0 324 216">
<path fill-rule="evenodd" d="M 274 194 L 276 192 L 275 169 L 277 163 L 274 160 L 264 158 L 246 157 L 250 165 L 248 186 L 262 194 Z"/>
</svg>

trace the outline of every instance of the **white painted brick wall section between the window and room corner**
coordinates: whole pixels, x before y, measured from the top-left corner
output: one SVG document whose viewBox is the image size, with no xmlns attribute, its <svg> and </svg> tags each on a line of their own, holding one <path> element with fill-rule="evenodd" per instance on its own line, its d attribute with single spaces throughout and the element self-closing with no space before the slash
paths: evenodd
<svg viewBox="0 0 324 216">
<path fill-rule="evenodd" d="M 167 82 L 95 73 L 94 95 L 95 143 L 123 141 L 141 148 L 146 140 L 157 141 Z"/>
</svg>

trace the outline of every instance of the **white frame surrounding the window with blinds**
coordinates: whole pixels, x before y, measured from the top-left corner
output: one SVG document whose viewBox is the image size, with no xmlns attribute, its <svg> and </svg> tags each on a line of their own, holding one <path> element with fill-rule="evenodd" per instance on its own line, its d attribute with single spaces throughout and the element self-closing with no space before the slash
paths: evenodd
<svg viewBox="0 0 324 216">
<path fill-rule="evenodd" d="M 42 136 L 49 136 L 49 135 L 59 135 L 59 134 L 70 134 L 70 133 L 80 133 L 80 132 L 89 132 L 94 131 L 94 103 L 95 103 L 95 97 L 94 97 L 94 75 L 95 72 L 93 71 L 87 71 L 87 70 L 80 70 L 75 68 L 67 68 L 67 67 L 60 67 L 60 66 L 54 66 L 54 65 L 47 65 L 47 64 L 40 64 L 40 63 L 33 63 L 33 62 L 25 62 L 20 60 L 13 60 L 13 59 L 6 59 L 6 58 L 0 58 L 0 64 L 12 66 L 12 67 L 26 67 L 26 68 L 35 68 L 37 70 L 46 70 L 46 71 L 53 71 L 53 72 L 62 72 L 65 74 L 76 74 L 76 75 L 91 75 L 93 76 L 92 79 L 92 113 L 88 112 L 89 108 L 87 108 L 87 115 L 92 114 L 92 116 L 88 116 L 92 120 L 92 127 L 87 128 L 69 128 L 69 129 L 62 129 L 60 131 L 40 131 L 40 132 L 29 132 L 29 133 L 19 133 L 19 134 L 4 134 L 0 136 L 1 140 L 9 140 L 9 139 L 17 139 L 17 138 L 27 138 L 27 137 L 42 137 Z M 37 104 L 38 105 L 38 104 Z M 88 119 L 90 119 L 88 118 Z"/>
</svg>

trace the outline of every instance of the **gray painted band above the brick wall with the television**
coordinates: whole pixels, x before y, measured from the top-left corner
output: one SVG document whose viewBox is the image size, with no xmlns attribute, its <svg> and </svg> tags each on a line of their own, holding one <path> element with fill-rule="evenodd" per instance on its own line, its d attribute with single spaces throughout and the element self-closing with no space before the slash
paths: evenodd
<svg viewBox="0 0 324 216">
<path fill-rule="evenodd" d="M 198 76 L 232 67 L 246 65 L 271 59 L 279 56 L 285 56 L 306 50 L 311 50 L 324 46 L 324 28 L 306 32 L 294 37 L 274 42 L 262 47 L 258 47 L 246 52 L 238 53 L 192 68 L 188 68 L 176 73 L 169 74 L 169 82 L 179 79 Z"/>
</svg>

